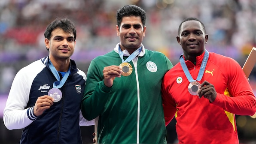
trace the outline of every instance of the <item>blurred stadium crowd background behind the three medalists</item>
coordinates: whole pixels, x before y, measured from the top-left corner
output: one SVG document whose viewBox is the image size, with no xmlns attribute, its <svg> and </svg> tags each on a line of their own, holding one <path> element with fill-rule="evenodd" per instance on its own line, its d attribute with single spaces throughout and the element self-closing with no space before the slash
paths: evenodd
<svg viewBox="0 0 256 144">
<path fill-rule="evenodd" d="M 256 0 L 0 0 L 0 143 L 19 143 L 21 129 L 3 125 L 3 108 L 19 69 L 46 55 L 44 30 L 57 17 L 70 18 L 77 27 L 73 60 L 87 72 L 90 61 L 113 50 L 116 36 L 116 10 L 135 4 L 147 12 L 143 45 L 161 51 L 173 64 L 182 49 L 176 42 L 180 22 L 197 17 L 204 22 L 208 51 L 244 65 L 256 47 Z M 250 75 L 256 92 L 256 69 Z M 175 119 L 167 126 L 167 142 L 176 143 Z M 237 116 L 240 143 L 256 143 L 256 119 Z M 93 126 L 81 127 L 84 143 L 92 143 Z M 225 135 L 223 135 L 225 136 Z"/>
</svg>

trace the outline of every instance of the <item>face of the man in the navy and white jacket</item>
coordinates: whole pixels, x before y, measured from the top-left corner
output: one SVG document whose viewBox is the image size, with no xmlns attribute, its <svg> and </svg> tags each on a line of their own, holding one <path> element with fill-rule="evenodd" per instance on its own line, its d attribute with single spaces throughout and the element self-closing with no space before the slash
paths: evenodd
<svg viewBox="0 0 256 144">
<path fill-rule="evenodd" d="M 66 33 L 61 28 L 52 31 L 50 39 L 45 39 L 46 48 L 49 48 L 49 58 L 51 61 L 70 60 L 75 48 L 74 36 Z"/>
</svg>

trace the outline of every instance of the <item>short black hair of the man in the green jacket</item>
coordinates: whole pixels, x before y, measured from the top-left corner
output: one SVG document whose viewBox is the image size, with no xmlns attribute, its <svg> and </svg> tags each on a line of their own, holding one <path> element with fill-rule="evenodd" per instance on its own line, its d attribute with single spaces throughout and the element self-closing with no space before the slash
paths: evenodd
<svg viewBox="0 0 256 144">
<path fill-rule="evenodd" d="M 126 16 L 139 16 L 142 21 L 143 27 L 146 24 L 146 12 L 139 6 L 125 5 L 118 9 L 116 12 L 116 21 L 118 27 L 120 27 L 121 25 L 122 18 Z"/>
</svg>

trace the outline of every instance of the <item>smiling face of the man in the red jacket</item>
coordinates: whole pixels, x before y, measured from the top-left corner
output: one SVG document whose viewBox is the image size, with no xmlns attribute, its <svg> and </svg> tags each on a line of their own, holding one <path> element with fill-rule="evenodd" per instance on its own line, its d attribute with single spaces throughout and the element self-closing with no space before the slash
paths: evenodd
<svg viewBox="0 0 256 144">
<path fill-rule="evenodd" d="M 204 33 L 199 21 L 185 21 L 181 25 L 180 35 L 177 36 L 185 60 L 195 60 L 196 56 L 201 55 L 205 50 L 207 39 L 208 35 Z"/>
</svg>

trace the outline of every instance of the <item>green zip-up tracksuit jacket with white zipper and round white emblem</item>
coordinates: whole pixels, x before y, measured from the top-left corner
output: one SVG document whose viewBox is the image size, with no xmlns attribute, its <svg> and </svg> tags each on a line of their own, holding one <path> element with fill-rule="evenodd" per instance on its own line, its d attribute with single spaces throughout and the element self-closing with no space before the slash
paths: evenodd
<svg viewBox="0 0 256 144">
<path fill-rule="evenodd" d="M 129 62 L 131 75 L 115 78 L 113 86 L 106 87 L 102 71 L 122 63 L 118 47 L 91 61 L 81 105 L 83 116 L 87 120 L 99 116 L 98 143 L 166 143 L 161 84 L 173 65 L 164 54 L 142 45 L 137 67 Z"/>
</svg>

